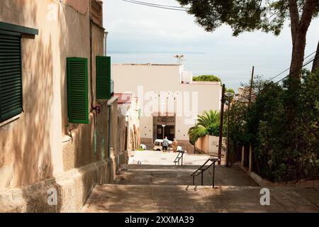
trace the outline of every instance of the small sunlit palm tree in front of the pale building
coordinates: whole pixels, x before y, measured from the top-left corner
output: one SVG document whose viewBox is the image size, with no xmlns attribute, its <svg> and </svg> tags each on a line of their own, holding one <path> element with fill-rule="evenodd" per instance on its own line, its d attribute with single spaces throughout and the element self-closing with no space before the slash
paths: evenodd
<svg viewBox="0 0 319 227">
<path fill-rule="evenodd" d="M 216 135 L 216 132 L 219 131 L 220 114 L 218 111 L 204 111 L 202 115 L 198 115 L 197 121 L 196 125 L 189 128 L 188 132 L 192 144 L 204 135 Z"/>
</svg>

